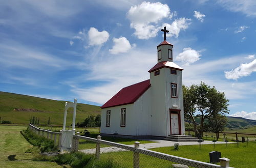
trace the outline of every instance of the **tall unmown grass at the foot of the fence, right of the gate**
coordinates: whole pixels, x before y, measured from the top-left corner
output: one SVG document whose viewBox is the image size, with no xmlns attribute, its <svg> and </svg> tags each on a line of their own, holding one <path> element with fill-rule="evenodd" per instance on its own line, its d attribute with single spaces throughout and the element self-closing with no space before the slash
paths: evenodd
<svg viewBox="0 0 256 168">
<path fill-rule="evenodd" d="M 81 152 L 70 152 L 60 154 L 57 156 L 42 156 L 37 155 L 33 159 L 34 161 L 51 161 L 57 162 L 60 165 L 69 164 L 71 167 L 88 167 L 88 168 L 110 168 L 110 167 L 122 167 L 113 162 L 113 160 L 97 160 L 93 155 L 84 154 Z"/>
</svg>

